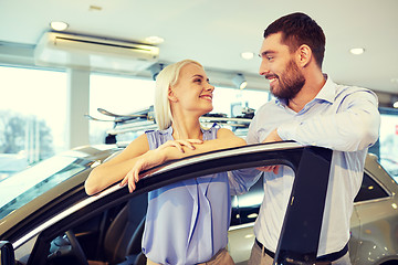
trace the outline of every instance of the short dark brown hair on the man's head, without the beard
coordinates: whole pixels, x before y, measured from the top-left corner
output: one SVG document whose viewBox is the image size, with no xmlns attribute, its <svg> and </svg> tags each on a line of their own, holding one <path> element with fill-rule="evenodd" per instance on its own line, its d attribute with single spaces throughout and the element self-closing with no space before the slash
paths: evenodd
<svg viewBox="0 0 398 265">
<path fill-rule="evenodd" d="M 325 54 L 326 38 L 322 28 L 305 13 L 291 13 L 272 22 L 264 31 L 264 38 L 282 33 L 282 43 L 290 52 L 295 52 L 301 45 L 311 47 L 316 64 L 322 68 Z"/>
</svg>

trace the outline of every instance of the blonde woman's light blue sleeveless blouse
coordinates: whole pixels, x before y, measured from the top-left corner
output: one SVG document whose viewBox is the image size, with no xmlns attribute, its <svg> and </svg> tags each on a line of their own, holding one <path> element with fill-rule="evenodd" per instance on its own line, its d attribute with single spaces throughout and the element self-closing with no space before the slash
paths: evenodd
<svg viewBox="0 0 398 265">
<path fill-rule="evenodd" d="M 202 129 L 203 140 L 219 127 Z M 146 131 L 149 148 L 174 140 L 172 128 Z M 143 253 L 159 264 L 197 264 L 227 246 L 231 195 L 227 172 L 185 180 L 148 193 Z"/>
</svg>

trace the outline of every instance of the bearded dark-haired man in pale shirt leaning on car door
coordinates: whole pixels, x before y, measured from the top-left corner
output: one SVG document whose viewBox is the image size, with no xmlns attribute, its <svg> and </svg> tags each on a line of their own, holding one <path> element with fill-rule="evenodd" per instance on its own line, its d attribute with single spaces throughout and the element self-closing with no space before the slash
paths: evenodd
<svg viewBox="0 0 398 265">
<path fill-rule="evenodd" d="M 324 51 L 321 26 L 304 13 L 282 17 L 268 26 L 260 75 L 270 81 L 276 99 L 256 112 L 247 141 L 295 140 L 333 149 L 317 256 L 350 264 L 349 220 L 368 147 L 378 138 L 378 102 L 373 92 L 337 85 L 323 74 Z M 272 264 L 294 179 L 286 166 L 262 170 L 264 200 L 254 224 L 251 265 Z"/>
</svg>

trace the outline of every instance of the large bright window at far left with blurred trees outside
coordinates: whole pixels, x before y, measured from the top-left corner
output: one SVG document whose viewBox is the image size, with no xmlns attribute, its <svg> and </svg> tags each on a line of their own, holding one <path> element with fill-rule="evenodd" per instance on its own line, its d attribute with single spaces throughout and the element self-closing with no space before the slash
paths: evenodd
<svg viewBox="0 0 398 265">
<path fill-rule="evenodd" d="M 65 150 L 65 72 L 0 65 L 0 181 Z"/>
</svg>

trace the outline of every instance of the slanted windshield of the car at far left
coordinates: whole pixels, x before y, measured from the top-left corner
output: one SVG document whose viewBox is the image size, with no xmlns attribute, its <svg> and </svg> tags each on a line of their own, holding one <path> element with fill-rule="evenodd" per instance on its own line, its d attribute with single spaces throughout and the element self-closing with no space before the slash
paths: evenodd
<svg viewBox="0 0 398 265">
<path fill-rule="evenodd" d="M 91 161 L 55 156 L 0 182 L 0 220 L 60 182 L 90 167 Z"/>
</svg>

